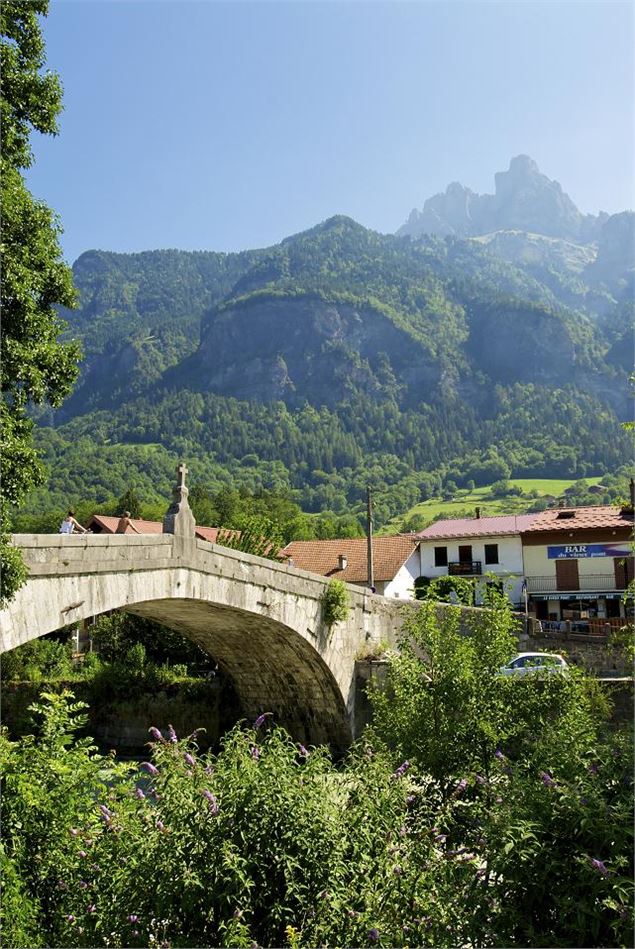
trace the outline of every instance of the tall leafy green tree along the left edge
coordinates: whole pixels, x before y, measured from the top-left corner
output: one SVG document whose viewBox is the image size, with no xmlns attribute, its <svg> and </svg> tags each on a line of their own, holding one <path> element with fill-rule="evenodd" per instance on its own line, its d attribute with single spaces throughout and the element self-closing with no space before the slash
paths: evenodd
<svg viewBox="0 0 635 949">
<path fill-rule="evenodd" d="M 66 324 L 56 306 L 75 303 L 72 274 L 61 258 L 59 224 L 53 212 L 30 194 L 23 171 L 33 161 L 33 130 L 54 135 L 61 110 L 56 75 L 42 73 L 44 42 L 38 17 L 47 0 L 3 3 L 0 9 L 0 115 L 2 197 L 2 494 L 4 530 L 10 506 L 18 505 L 42 481 L 33 447 L 30 405 L 59 406 L 77 376 L 79 347 L 60 342 Z M 10 597 L 24 569 L 6 534 L 0 551 L 0 598 Z"/>
</svg>

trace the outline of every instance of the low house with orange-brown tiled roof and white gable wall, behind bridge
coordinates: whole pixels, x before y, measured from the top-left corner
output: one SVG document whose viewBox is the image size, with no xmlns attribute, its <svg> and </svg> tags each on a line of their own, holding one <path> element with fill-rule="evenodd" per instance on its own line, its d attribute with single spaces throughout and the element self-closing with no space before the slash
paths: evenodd
<svg viewBox="0 0 635 949">
<path fill-rule="evenodd" d="M 340 540 L 294 540 L 282 550 L 299 570 L 344 580 L 368 588 L 368 548 L 365 537 Z M 413 534 L 373 538 L 373 580 L 382 596 L 412 599 L 419 576 L 417 541 Z"/>
</svg>

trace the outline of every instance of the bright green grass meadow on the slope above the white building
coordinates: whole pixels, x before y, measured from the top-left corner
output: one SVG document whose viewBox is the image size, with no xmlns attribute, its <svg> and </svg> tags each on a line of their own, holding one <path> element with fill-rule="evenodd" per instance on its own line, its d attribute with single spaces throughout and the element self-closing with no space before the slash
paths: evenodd
<svg viewBox="0 0 635 949">
<path fill-rule="evenodd" d="M 585 478 L 589 485 L 599 484 L 602 478 Z M 480 507 L 483 517 L 491 517 L 498 514 L 524 514 L 531 507 L 535 498 L 527 497 L 529 492 L 536 491 L 539 495 L 553 495 L 558 497 L 562 492 L 574 484 L 575 478 L 511 478 L 509 483 L 513 487 L 521 488 L 524 492 L 523 497 L 512 496 L 504 498 L 493 498 L 490 485 L 484 485 L 475 488 L 474 491 L 460 489 L 456 492 L 451 501 L 444 501 L 441 498 L 434 498 L 429 501 L 421 501 L 415 504 L 408 511 L 393 517 L 379 530 L 378 534 L 397 533 L 404 520 L 415 514 L 422 515 L 429 524 L 439 515 L 444 517 L 457 517 L 465 513 L 466 517 L 474 516 L 474 508 Z"/>
</svg>

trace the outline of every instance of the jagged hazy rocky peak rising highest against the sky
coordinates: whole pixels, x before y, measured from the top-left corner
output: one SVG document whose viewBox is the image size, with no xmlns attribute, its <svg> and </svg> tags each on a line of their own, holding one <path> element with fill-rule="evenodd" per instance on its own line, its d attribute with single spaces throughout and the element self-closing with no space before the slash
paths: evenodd
<svg viewBox="0 0 635 949">
<path fill-rule="evenodd" d="M 498 172 L 494 181 L 493 195 L 475 194 L 453 182 L 443 194 L 428 198 L 422 211 L 412 211 L 397 234 L 475 237 L 519 230 L 588 243 L 607 217 L 582 214 L 527 155 L 512 158 L 508 171 Z"/>
</svg>

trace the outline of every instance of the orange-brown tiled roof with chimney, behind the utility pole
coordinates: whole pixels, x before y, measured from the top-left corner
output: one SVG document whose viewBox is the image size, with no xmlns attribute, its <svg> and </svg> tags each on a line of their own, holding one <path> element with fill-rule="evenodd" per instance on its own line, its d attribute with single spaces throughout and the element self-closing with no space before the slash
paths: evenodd
<svg viewBox="0 0 635 949">
<path fill-rule="evenodd" d="M 415 550 L 417 542 L 413 534 L 398 534 L 394 537 L 373 538 L 373 574 L 380 582 L 394 579 Z M 347 564 L 340 570 L 338 558 L 346 557 Z M 365 537 L 349 537 L 340 540 L 293 540 L 282 550 L 291 566 L 323 577 L 345 580 L 347 583 L 364 583 L 368 579 L 367 547 Z"/>
</svg>

